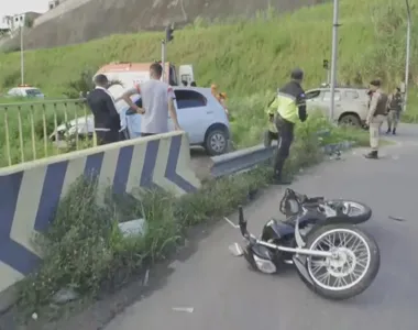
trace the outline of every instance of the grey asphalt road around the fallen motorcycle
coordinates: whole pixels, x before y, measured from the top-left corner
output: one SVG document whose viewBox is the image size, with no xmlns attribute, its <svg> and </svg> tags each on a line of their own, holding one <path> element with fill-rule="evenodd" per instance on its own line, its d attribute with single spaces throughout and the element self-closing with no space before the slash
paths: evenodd
<svg viewBox="0 0 418 330">
<path fill-rule="evenodd" d="M 402 131 L 403 130 L 403 131 Z M 186 260 L 175 261 L 166 284 L 127 308 L 107 330 L 416 330 L 418 329 L 418 134 L 405 125 L 398 145 L 384 147 L 382 160 L 361 151 L 308 169 L 293 185 L 297 191 L 366 202 L 373 218 L 362 228 L 372 233 L 382 254 L 373 285 L 356 298 L 333 302 L 312 294 L 292 270 L 264 275 L 229 254 L 239 232 L 227 223 L 199 242 Z M 279 187 L 270 188 L 246 207 L 250 230 L 258 233 L 278 217 Z M 404 218 L 394 221 L 388 217 Z M 154 274 L 151 272 L 150 282 Z M 193 312 L 174 311 L 193 307 Z"/>
</svg>

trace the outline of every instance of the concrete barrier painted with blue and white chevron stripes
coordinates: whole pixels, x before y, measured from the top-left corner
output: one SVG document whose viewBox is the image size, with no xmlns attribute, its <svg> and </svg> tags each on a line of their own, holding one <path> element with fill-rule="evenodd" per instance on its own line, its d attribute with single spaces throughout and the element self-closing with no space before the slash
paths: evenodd
<svg viewBox="0 0 418 330">
<path fill-rule="evenodd" d="M 189 165 L 187 135 L 172 132 L 0 169 L 0 293 L 37 266 L 33 234 L 47 229 L 78 177 L 96 175 L 117 194 L 160 186 L 183 195 L 200 187 Z"/>
</svg>

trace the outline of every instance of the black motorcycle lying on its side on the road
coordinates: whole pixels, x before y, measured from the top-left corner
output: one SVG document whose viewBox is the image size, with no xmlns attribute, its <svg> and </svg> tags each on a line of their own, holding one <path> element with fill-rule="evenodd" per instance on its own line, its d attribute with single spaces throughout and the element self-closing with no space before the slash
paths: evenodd
<svg viewBox="0 0 418 330">
<path fill-rule="evenodd" d="M 352 298 L 372 284 L 381 264 L 380 250 L 355 226 L 371 218 L 367 206 L 308 198 L 286 189 L 280 211 L 286 220 L 268 220 L 260 239 L 248 231 L 242 207 L 238 226 L 226 218 L 244 238 L 243 246 L 230 246 L 231 253 L 244 255 L 252 267 L 267 274 L 294 264 L 304 283 L 328 299 Z"/>
</svg>

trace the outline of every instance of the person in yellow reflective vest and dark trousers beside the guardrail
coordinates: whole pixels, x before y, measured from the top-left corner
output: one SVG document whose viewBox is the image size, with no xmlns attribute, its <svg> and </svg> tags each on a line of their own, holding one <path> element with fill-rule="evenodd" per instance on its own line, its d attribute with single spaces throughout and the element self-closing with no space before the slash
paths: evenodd
<svg viewBox="0 0 418 330">
<path fill-rule="evenodd" d="M 274 161 L 274 184 L 289 185 L 290 180 L 283 177 L 283 167 L 289 156 L 294 140 L 294 128 L 298 121 L 306 121 L 306 97 L 300 84 L 304 72 L 295 68 L 290 74 L 290 81 L 278 89 L 277 113 L 275 116 L 276 129 L 279 132 L 278 150 Z"/>
</svg>

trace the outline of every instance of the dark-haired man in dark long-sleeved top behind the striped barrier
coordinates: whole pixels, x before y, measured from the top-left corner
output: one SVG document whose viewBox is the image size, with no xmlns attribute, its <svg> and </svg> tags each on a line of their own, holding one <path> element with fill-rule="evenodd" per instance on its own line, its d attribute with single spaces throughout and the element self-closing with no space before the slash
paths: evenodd
<svg viewBox="0 0 418 330">
<path fill-rule="evenodd" d="M 98 145 L 120 141 L 120 117 L 112 96 L 108 91 L 109 80 L 105 75 L 95 77 L 96 88 L 87 96 L 87 103 L 95 117 Z"/>
</svg>

